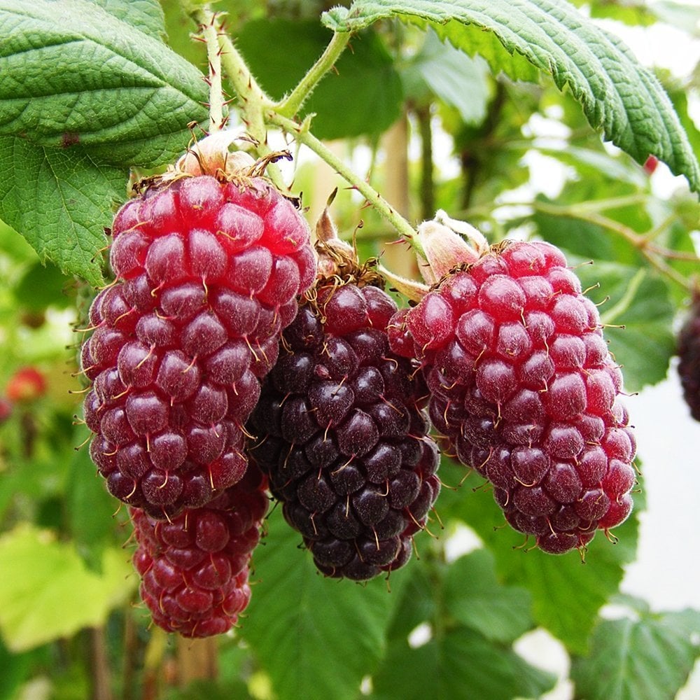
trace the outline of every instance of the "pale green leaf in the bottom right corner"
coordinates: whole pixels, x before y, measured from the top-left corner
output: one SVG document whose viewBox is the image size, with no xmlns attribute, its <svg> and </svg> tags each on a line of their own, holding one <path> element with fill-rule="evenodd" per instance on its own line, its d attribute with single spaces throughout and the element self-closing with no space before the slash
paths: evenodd
<svg viewBox="0 0 700 700">
<path fill-rule="evenodd" d="M 605 620 L 591 652 L 573 659 L 576 696 L 586 700 L 673 700 L 700 656 L 700 612 Z"/>
</svg>

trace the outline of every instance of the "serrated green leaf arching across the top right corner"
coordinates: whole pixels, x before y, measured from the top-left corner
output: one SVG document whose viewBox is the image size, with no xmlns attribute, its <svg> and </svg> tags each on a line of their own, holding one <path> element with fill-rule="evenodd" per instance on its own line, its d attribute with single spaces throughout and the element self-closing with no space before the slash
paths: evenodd
<svg viewBox="0 0 700 700">
<path fill-rule="evenodd" d="M 591 126 L 602 130 L 606 139 L 640 163 L 656 155 L 700 191 L 700 166 L 657 78 L 619 38 L 594 25 L 568 2 L 355 0 L 349 10 L 324 13 L 323 22 L 335 31 L 357 31 L 396 16 L 438 25 L 458 22 L 482 33 L 492 32 L 509 55 L 523 56 L 551 75 L 559 90 L 570 90 Z M 497 63 L 491 67 L 500 69 Z"/>
</svg>

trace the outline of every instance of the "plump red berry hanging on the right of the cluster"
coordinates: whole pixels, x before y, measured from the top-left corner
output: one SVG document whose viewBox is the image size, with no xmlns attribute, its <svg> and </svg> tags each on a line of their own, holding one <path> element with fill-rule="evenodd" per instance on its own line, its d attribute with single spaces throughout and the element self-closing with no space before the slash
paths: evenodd
<svg viewBox="0 0 700 700">
<path fill-rule="evenodd" d="M 429 255 L 430 233 L 423 244 Z M 451 271 L 448 260 L 393 324 L 412 336 L 433 425 L 493 484 L 515 529 L 546 552 L 584 547 L 626 519 L 636 480 L 622 374 L 598 309 L 547 243 L 496 246 Z"/>
</svg>

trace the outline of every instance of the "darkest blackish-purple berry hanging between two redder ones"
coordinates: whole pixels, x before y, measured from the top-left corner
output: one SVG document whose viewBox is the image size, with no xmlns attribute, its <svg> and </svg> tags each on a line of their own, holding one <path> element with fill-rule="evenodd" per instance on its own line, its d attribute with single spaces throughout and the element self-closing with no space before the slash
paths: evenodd
<svg viewBox="0 0 700 700">
<path fill-rule="evenodd" d="M 367 580 L 410 558 L 440 491 L 439 455 L 420 374 L 388 349 L 395 303 L 344 269 L 345 281 L 318 281 L 283 332 L 248 426 L 251 456 L 316 567 Z"/>
</svg>

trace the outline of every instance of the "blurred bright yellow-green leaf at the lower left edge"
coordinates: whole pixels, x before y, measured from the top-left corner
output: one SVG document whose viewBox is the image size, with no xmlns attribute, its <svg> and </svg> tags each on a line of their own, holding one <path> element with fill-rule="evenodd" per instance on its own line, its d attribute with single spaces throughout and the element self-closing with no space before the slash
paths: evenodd
<svg viewBox="0 0 700 700">
<path fill-rule="evenodd" d="M 50 531 L 18 526 L 0 538 L 0 631 L 15 652 L 104 624 L 137 577 L 122 549 L 104 552 L 102 576 Z"/>
</svg>

